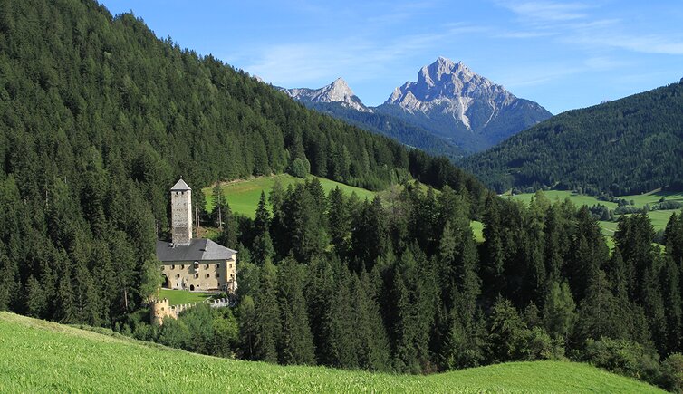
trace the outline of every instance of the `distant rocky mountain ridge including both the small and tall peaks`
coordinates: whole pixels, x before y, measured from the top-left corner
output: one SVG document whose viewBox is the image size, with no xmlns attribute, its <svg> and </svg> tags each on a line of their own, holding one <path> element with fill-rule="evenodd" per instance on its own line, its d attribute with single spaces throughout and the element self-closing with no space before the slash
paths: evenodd
<svg viewBox="0 0 683 394">
<path fill-rule="evenodd" d="M 445 57 L 422 67 L 417 82 L 397 87 L 379 107 L 364 105 L 342 78 L 320 89 L 281 89 L 313 109 L 428 153 L 446 150 L 451 159 L 489 148 L 553 116 L 541 105 L 518 99 L 503 86 L 472 72 L 463 62 Z M 365 116 L 348 110 L 365 112 Z M 397 126 L 400 124 L 403 126 Z M 406 125 L 412 131 L 406 130 Z M 397 127 L 405 132 L 397 135 Z M 421 143 L 428 134 L 431 137 Z M 434 141 L 443 148 L 433 149 Z"/>
</svg>

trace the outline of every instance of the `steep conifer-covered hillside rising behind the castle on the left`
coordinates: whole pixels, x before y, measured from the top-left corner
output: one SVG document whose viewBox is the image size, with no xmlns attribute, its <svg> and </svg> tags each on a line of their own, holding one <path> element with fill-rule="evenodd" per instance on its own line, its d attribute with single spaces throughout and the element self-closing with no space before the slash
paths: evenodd
<svg viewBox="0 0 683 394">
<path fill-rule="evenodd" d="M 486 193 L 447 159 L 308 110 L 132 14 L 93 0 L 0 10 L 0 309 L 92 325 L 135 311 L 180 177 L 200 189 L 310 172 L 375 190 L 449 184 L 473 204 Z"/>
</svg>

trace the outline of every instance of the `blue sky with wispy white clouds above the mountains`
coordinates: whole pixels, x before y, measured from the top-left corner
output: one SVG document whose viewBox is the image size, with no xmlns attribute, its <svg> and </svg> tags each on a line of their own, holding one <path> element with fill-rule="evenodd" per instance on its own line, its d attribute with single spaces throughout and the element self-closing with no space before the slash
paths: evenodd
<svg viewBox="0 0 683 394">
<path fill-rule="evenodd" d="M 104 0 L 266 82 L 342 77 L 366 105 L 439 55 L 559 113 L 683 77 L 679 0 Z"/>
</svg>

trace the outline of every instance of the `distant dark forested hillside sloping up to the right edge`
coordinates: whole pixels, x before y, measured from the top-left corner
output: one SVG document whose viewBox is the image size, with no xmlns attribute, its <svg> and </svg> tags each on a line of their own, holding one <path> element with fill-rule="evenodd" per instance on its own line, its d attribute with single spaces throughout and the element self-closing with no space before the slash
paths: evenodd
<svg viewBox="0 0 683 394">
<path fill-rule="evenodd" d="M 614 196 L 682 189 L 683 82 L 567 111 L 462 161 L 489 187 Z"/>
</svg>

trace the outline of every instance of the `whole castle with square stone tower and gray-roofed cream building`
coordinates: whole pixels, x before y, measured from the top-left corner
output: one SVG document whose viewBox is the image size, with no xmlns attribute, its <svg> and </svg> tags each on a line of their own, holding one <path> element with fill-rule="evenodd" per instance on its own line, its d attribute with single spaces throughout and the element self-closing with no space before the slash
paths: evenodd
<svg viewBox="0 0 683 394">
<path fill-rule="evenodd" d="M 234 293 L 237 252 L 210 239 L 192 237 L 192 189 L 184 180 L 178 180 L 170 193 L 172 241 L 157 241 L 163 287 Z"/>
</svg>

